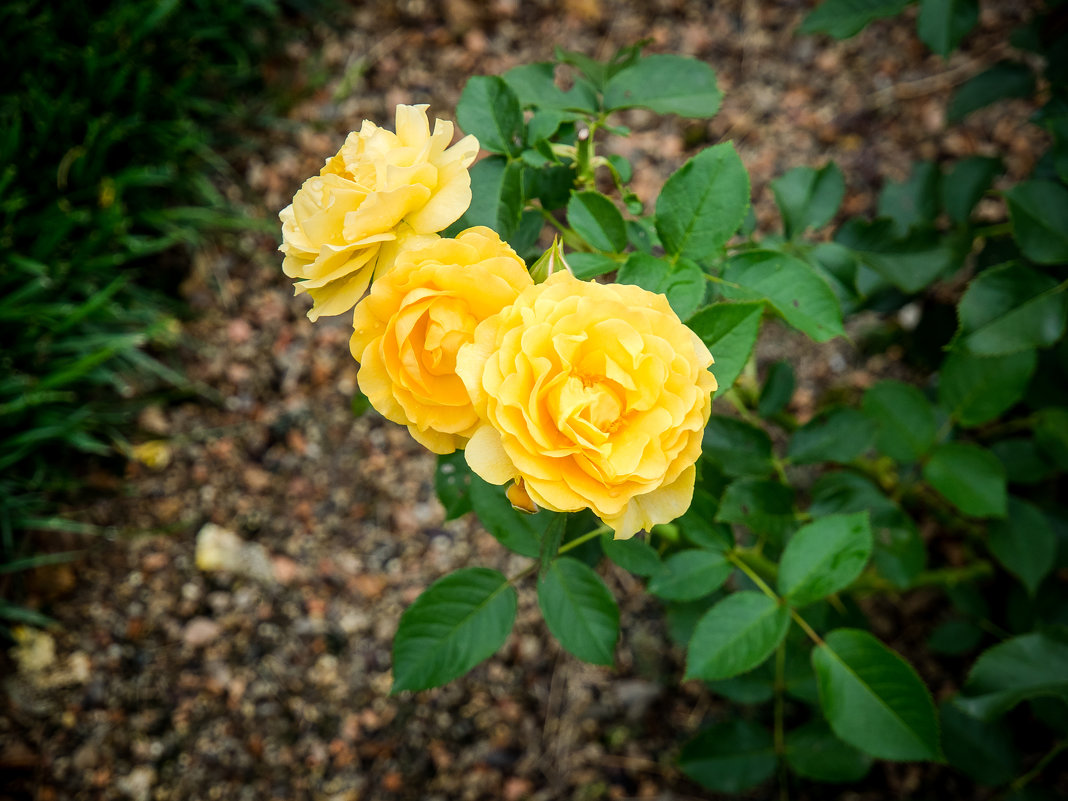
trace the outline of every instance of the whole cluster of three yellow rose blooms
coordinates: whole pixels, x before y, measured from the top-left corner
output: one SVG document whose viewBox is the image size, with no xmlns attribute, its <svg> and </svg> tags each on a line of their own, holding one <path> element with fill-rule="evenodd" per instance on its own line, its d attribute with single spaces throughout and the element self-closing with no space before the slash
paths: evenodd
<svg viewBox="0 0 1068 801">
<path fill-rule="evenodd" d="M 396 129 L 365 122 L 280 215 L 309 316 L 355 305 L 372 406 L 517 505 L 591 508 L 616 537 L 685 513 L 716 390 L 704 343 L 662 295 L 535 283 L 487 227 L 438 236 L 470 204 L 477 142 L 431 135 L 425 106 L 398 106 Z"/>
</svg>

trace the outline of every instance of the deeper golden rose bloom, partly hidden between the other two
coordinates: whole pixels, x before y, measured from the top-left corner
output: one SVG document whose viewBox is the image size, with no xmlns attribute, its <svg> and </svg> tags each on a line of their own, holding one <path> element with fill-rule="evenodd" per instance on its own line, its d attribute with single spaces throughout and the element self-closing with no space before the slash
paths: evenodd
<svg viewBox="0 0 1068 801">
<path fill-rule="evenodd" d="M 434 453 L 462 447 L 478 417 L 456 352 L 532 285 L 522 260 L 487 227 L 403 249 L 354 312 L 349 348 L 371 405 Z"/>
</svg>

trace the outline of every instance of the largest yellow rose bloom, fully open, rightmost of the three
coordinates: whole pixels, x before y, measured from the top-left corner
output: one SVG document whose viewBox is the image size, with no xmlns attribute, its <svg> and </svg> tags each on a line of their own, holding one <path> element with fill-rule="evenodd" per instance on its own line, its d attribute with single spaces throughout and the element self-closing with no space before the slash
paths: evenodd
<svg viewBox="0 0 1068 801">
<path fill-rule="evenodd" d="M 460 349 L 484 421 L 468 464 L 539 506 L 590 507 L 617 538 L 674 520 L 693 497 L 711 363 L 662 295 L 556 272 Z"/>
</svg>

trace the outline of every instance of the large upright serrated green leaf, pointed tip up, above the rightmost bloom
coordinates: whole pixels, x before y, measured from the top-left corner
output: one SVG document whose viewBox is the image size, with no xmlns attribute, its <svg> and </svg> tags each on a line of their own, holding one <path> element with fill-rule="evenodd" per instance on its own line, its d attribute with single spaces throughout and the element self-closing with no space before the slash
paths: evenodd
<svg viewBox="0 0 1068 801">
<path fill-rule="evenodd" d="M 676 170 L 657 198 L 664 250 L 698 262 L 712 257 L 749 208 L 749 174 L 731 142 L 707 147 Z"/>
</svg>

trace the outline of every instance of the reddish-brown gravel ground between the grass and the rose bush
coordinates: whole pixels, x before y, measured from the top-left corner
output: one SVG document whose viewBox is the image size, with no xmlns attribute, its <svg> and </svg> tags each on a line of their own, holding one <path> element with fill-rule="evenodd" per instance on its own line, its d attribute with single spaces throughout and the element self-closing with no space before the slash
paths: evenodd
<svg viewBox="0 0 1068 801">
<path fill-rule="evenodd" d="M 848 184 L 844 215 L 874 209 L 886 179 L 917 159 L 1004 154 L 1014 179 L 1040 138 L 1030 107 L 1002 104 L 947 125 L 954 87 L 1006 53 L 1026 2 L 983 3 L 979 29 L 948 61 L 915 35 L 915 7 L 836 43 L 796 29 L 811 2 L 399 0 L 354 3 L 343 21 L 277 67 L 313 90 L 289 124 L 240 166 L 274 219 L 363 119 L 392 125 L 398 103 L 452 117 L 465 80 L 547 60 L 554 45 L 606 58 L 650 37 L 650 52 L 711 64 L 725 93 L 708 122 L 630 112 L 616 144 L 638 193 L 655 198 L 696 150 L 733 140 L 749 168 L 761 231 L 779 225 L 768 182 L 829 159 Z M 995 201 L 980 209 L 996 217 Z M 69 509 L 110 536 L 88 557 L 34 577 L 30 602 L 61 626 L 2 669 L 0 799 L 660 799 L 718 798 L 679 773 L 680 743 L 732 707 L 679 684 L 680 650 L 656 602 L 603 568 L 623 610 L 612 670 L 562 653 L 521 587 L 504 647 L 447 687 L 389 695 L 404 609 L 462 566 L 515 574 L 525 560 L 469 518 L 445 522 L 434 458 L 375 413 L 354 420 L 348 320 L 312 325 L 293 297 L 277 239 L 247 235 L 202 253 L 183 284 L 189 375 L 217 393 L 145 410 L 125 474 L 92 470 Z M 855 392 L 899 354 L 847 341 L 806 346 L 770 327 L 763 370 L 790 359 L 794 409 Z M 725 411 L 725 409 L 720 409 Z M 248 572 L 198 568 L 214 523 L 246 544 Z M 251 567 L 249 567 L 251 565 Z M 929 596 L 884 609 L 876 629 L 906 650 L 933 621 Z M 959 676 L 917 665 L 936 696 Z M 972 798 L 947 770 L 877 764 L 841 791 L 796 783 L 795 799 Z M 766 785 L 747 796 L 778 797 Z"/>
</svg>

